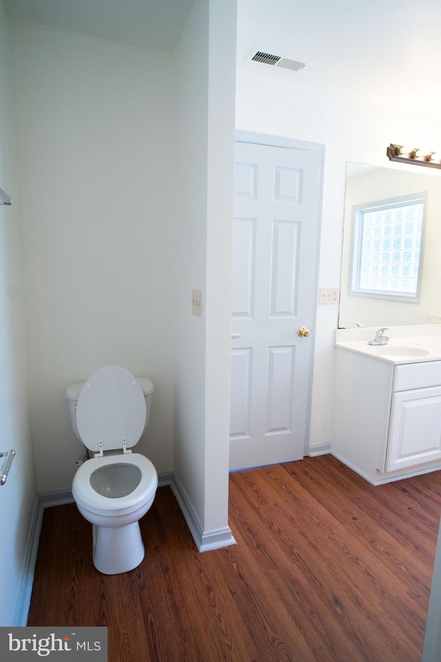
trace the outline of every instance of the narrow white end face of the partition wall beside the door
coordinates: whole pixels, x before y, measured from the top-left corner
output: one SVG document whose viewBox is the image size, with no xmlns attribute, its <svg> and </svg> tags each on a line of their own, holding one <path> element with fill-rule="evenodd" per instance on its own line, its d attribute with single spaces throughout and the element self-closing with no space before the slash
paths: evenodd
<svg viewBox="0 0 441 662">
<path fill-rule="evenodd" d="M 205 530 L 228 521 L 236 0 L 209 3 Z"/>
</svg>

